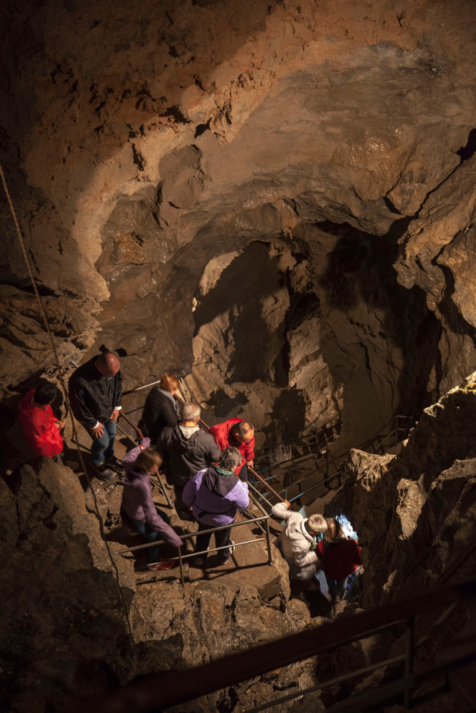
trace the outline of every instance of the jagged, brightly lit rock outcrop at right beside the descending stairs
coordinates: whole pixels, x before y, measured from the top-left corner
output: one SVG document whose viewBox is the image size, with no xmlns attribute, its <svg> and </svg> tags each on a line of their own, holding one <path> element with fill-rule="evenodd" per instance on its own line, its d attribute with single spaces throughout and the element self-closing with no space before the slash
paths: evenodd
<svg viewBox="0 0 476 713">
<path fill-rule="evenodd" d="M 475 571 L 476 372 L 425 409 L 397 456 L 351 451 L 329 511 L 347 513 L 363 545 L 363 600 L 375 605 Z"/>
</svg>

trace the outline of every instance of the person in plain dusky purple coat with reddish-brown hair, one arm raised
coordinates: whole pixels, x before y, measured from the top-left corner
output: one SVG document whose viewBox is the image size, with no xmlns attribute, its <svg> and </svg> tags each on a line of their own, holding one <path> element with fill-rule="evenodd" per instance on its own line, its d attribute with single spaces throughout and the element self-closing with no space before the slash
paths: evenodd
<svg viewBox="0 0 476 713">
<path fill-rule="evenodd" d="M 183 540 L 168 525 L 166 513 L 158 510 L 153 503 L 150 476 L 158 472 L 162 458 L 152 448 L 144 448 L 148 443 L 150 439 L 144 438 L 142 445 L 126 453 L 123 459 L 126 477 L 123 480 L 121 516 L 150 542 L 164 539 L 175 547 L 181 547 Z M 159 561 L 159 546 L 151 547 L 149 555 L 150 570 L 166 570 L 175 564 L 173 560 Z"/>
</svg>

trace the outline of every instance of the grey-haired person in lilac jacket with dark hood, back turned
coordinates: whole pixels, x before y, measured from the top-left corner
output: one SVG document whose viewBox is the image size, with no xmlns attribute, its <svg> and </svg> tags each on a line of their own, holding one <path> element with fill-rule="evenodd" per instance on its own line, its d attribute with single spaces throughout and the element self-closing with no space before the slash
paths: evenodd
<svg viewBox="0 0 476 713">
<path fill-rule="evenodd" d="M 218 465 L 198 471 L 193 480 L 188 481 L 183 488 L 183 502 L 192 507 L 193 517 L 198 522 L 198 533 L 201 530 L 231 525 L 236 518 L 238 508 L 245 508 L 249 503 L 248 483 L 240 481 L 233 472 L 241 462 L 238 448 L 225 448 L 222 451 Z M 215 534 L 215 545 L 218 550 L 218 566 L 224 565 L 233 553 L 233 540 L 230 539 L 231 527 L 218 530 Z M 198 534 L 196 552 L 208 549 L 211 533 Z M 227 547 L 228 545 L 228 547 Z M 195 565 L 203 567 L 206 557 L 195 558 Z"/>
</svg>

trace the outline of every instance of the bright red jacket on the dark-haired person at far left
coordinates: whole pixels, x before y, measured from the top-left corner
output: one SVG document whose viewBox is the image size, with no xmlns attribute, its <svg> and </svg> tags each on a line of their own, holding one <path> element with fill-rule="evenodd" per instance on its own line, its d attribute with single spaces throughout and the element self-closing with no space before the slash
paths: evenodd
<svg viewBox="0 0 476 713">
<path fill-rule="evenodd" d="M 34 456 L 52 458 L 63 450 L 63 438 L 56 426 L 51 406 L 34 406 L 35 390 L 31 389 L 19 403 L 19 419 L 26 443 Z"/>
</svg>

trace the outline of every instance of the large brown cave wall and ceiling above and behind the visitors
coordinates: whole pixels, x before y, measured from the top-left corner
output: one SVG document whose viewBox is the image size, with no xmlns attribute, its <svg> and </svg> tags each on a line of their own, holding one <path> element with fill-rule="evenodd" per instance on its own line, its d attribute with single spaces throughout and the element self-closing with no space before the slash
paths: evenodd
<svg viewBox="0 0 476 713">
<path fill-rule="evenodd" d="M 470 373 L 468 8 L 4 10 L 6 174 L 66 371 L 106 344 L 263 441 L 352 444 Z M 8 395 L 51 356 L 1 215 Z"/>
</svg>

